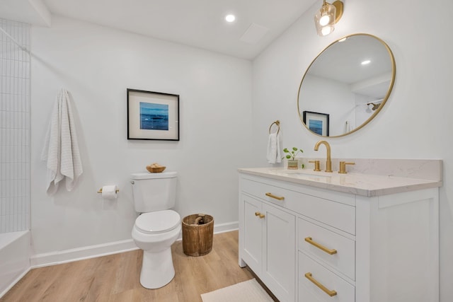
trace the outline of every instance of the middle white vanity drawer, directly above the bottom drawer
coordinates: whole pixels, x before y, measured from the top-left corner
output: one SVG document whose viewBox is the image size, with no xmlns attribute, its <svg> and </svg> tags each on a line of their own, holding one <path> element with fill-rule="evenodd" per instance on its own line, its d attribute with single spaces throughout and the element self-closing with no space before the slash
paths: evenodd
<svg viewBox="0 0 453 302">
<path fill-rule="evenodd" d="M 355 280 L 355 240 L 304 219 L 299 218 L 297 224 L 299 229 L 297 245 L 300 251 Z M 311 243 L 307 242 L 306 238 Z"/>
</svg>

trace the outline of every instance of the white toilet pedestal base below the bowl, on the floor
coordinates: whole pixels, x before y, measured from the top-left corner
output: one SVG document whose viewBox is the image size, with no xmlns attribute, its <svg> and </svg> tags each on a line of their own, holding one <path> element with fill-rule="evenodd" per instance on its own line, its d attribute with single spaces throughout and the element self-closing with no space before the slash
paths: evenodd
<svg viewBox="0 0 453 302">
<path fill-rule="evenodd" d="M 171 248 L 160 252 L 143 251 L 140 284 L 147 289 L 159 289 L 175 277 Z"/>
</svg>

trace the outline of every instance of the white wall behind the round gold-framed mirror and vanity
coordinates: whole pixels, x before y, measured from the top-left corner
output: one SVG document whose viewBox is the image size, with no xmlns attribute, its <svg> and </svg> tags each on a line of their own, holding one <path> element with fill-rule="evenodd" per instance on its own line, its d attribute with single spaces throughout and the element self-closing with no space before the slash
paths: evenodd
<svg viewBox="0 0 453 302">
<path fill-rule="evenodd" d="M 450 0 L 345 1 L 335 32 L 319 37 L 311 7 L 253 62 L 253 151 L 265 148 L 266 130 L 280 120 L 283 147 L 314 151 L 319 137 L 309 133 L 297 115 L 299 82 L 323 47 L 351 33 L 381 37 L 394 52 L 396 82 L 384 108 L 366 127 L 347 137 L 328 139 L 336 158 L 442 158 L 440 190 L 441 301 L 453 296 L 453 10 Z M 256 165 L 264 166 L 264 156 Z"/>
</svg>

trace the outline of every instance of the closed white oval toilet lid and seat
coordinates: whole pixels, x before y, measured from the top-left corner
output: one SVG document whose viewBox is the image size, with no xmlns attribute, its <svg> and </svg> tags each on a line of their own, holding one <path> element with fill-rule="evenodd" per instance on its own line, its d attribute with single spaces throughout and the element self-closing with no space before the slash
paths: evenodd
<svg viewBox="0 0 453 302">
<path fill-rule="evenodd" d="M 144 213 L 137 217 L 135 226 L 147 234 L 158 234 L 171 231 L 180 223 L 180 216 L 176 211 L 164 210 Z"/>
</svg>

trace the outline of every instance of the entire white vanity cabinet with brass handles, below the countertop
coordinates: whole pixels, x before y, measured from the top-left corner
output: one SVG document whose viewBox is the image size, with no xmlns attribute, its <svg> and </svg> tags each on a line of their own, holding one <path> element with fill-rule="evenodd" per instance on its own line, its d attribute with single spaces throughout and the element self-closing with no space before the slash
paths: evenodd
<svg viewBox="0 0 453 302">
<path fill-rule="evenodd" d="M 239 175 L 239 265 L 281 302 L 438 301 L 437 187 L 368 197 L 259 174 Z"/>
</svg>

